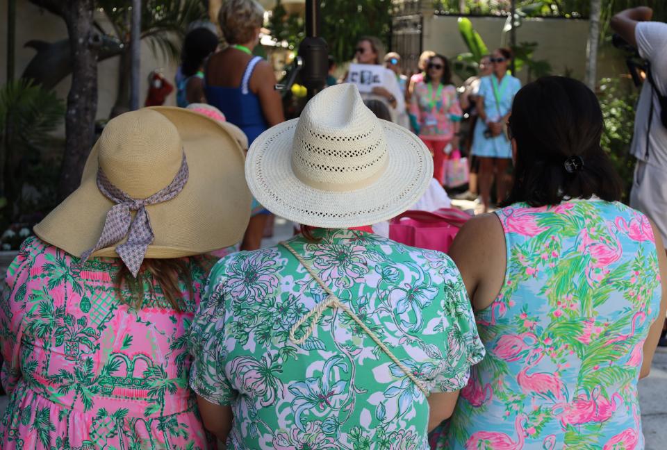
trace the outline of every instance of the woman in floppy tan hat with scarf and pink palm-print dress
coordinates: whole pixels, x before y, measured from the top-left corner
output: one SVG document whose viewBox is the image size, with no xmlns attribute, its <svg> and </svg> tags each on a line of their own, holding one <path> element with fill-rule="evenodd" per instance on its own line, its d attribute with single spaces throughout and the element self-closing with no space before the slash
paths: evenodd
<svg viewBox="0 0 667 450">
<path fill-rule="evenodd" d="M 157 107 L 110 121 L 81 186 L 22 244 L 0 303 L 0 448 L 210 448 L 186 331 L 250 193 L 224 124 Z M 212 448 L 212 447 L 211 447 Z"/>
</svg>

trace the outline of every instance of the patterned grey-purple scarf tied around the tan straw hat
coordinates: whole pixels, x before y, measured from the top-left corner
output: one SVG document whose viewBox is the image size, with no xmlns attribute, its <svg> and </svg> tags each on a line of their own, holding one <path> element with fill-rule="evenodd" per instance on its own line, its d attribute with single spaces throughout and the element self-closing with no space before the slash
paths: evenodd
<svg viewBox="0 0 667 450">
<path fill-rule="evenodd" d="M 146 250 L 153 242 L 155 235 L 146 206 L 162 203 L 176 197 L 188 182 L 188 162 L 183 153 L 183 162 L 174 180 L 166 188 L 156 192 L 147 199 L 133 199 L 109 181 L 101 168 L 97 171 L 97 187 L 106 198 L 113 201 L 115 206 L 109 210 L 104 222 L 104 229 L 97 240 L 97 244 L 81 255 L 81 263 L 85 263 L 90 255 L 99 249 L 120 242 L 127 236 L 127 242 L 116 247 L 116 253 L 136 278 L 144 260 Z M 131 211 L 136 211 L 132 220 Z"/>
</svg>

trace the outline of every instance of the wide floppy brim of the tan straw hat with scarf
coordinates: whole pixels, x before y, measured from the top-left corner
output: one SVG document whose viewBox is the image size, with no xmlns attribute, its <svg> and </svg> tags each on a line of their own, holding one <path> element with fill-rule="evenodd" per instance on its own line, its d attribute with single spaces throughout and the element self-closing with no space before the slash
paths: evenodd
<svg viewBox="0 0 667 450">
<path fill-rule="evenodd" d="M 155 240 L 146 258 L 180 258 L 236 244 L 245 233 L 252 201 L 236 133 L 226 124 L 183 108 L 150 109 L 176 126 L 190 175 L 176 197 L 147 206 Z M 98 145 L 90 151 L 79 188 L 35 226 L 40 239 L 73 256 L 94 247 L 114 205 L 97 188 Z M 117 257 L 115 245 L 93 256 Z"/>
</svg>

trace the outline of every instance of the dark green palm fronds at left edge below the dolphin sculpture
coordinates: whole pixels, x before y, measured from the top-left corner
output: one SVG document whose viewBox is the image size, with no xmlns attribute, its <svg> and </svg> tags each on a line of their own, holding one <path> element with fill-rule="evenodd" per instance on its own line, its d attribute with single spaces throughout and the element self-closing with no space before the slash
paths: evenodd
<svg viewBox="0 0 667 450">
<path fill-rule="evenodd" d="M 23 195 L 26 183 L 38 186 L 42 195 L 49 197 L 47 191 L 56 185 L 57 174 L 52 170 L 51 180 L 40 162 L 44 150 L 53 144 L 51 133 L 64 116 L 63 101 L 30 80 L 18 79 L 0 88 L 1 189 L 6 197 L 2 222 L 13 222 L 20 213 L 28 212 Z M 55 192 L 51 194 L 55 196 Z"/>
</svg>

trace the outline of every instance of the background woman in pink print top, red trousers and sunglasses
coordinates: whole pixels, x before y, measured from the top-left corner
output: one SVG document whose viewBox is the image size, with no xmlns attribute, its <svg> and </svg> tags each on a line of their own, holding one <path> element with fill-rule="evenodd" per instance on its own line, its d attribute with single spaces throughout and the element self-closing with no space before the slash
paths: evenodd
<svg viewBox="0 0 667 450">
<path fill-rule="evenodd" d="M 445 183 L 445 147 L 459 147 L 461 105 L 452 85 L 447 58 L 433 56 L 427 65 L 424 81 L 415 85 L 410 99 L 410 122 L 415 133 L 433 155 L 433 177 Z"/>
</svg>

